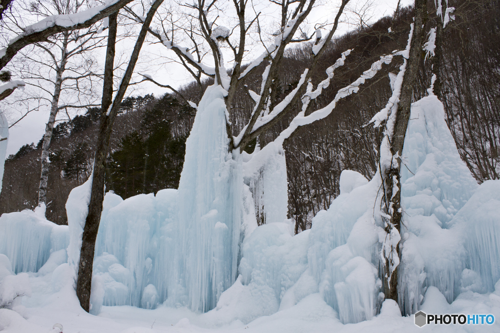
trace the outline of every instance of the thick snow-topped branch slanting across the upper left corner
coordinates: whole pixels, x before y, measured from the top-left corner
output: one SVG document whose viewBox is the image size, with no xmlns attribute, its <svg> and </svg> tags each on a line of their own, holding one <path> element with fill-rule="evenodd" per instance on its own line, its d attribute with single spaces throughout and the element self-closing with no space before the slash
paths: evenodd
<svg viewBox="0 0 500 333">
<path fill-rule="evenodd" d="M 28 25 L 22 33 L 10 40 L 7 47 L 0 50 L 0 68 L 3 68 L 17 51 L 24 46 L 45 41 L 47 37 L 58 32 L 87 28 L 131 1 L 110 0 L 102 6 L 92 7 L 73 14 L 47 16 L 34 24 Z"/>
</svg>

